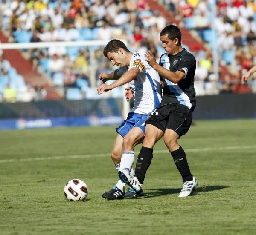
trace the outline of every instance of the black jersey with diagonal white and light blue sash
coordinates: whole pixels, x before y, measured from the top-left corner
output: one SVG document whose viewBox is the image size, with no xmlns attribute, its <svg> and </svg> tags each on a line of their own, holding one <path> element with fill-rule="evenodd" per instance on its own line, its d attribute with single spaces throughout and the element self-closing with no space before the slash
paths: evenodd
<svg viewBox="0 0 256 235">
<path fill-rule="evenodd" d="M 183 48 L 176 55 L 163 54 L 160 57 L 160 65 L 172 72 L 178 70 L 185 72 L 185 77 L 176 84 L 160 76 L 164 83 L 160 106 L 169 103 L 181 103 L 193 111 L 196 105 L 194 89 L 195 57 Z"/>
</svg>

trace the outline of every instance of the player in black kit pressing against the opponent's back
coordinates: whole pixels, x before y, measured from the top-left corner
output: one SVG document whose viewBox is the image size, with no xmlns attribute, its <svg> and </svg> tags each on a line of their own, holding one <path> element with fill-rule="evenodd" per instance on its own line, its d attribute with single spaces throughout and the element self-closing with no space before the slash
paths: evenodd
<svg viewBox="0 0 256 235">
<path fill-rule="evenodd" d="M 166 26 L 160 32 L 160 40 L 166 53 L 156 62 L 154 55 L 145 53 L 148 64 L 160 75 L 164 84 L 163 98 L 160 106 L 146 120 L 143 147 L 137 158 L 135 177 L 119 171 L 119 178 L 139 191 L 143 184 L 146 171 L 153 158 L 153 147 L 163 137 L 175 165 L 180 172 L 183 186 L 179 197 L 187 197 L 198 186 L 196 178 L 191 174 L 186 154 L 177 143 L 180 136 L 185 135 L 192 122 L 195 109 L 194 75 L 195 57 L 181 46 L 181 32 L 177 26 Z"/>
</svg>

